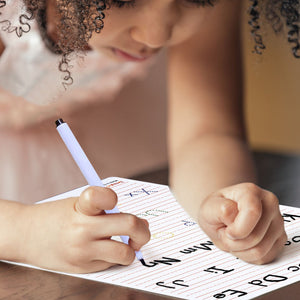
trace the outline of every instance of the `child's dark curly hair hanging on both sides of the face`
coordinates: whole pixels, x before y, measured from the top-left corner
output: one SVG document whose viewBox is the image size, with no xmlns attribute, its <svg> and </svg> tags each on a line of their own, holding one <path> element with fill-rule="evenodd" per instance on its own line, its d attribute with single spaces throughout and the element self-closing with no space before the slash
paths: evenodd
<svg viewBox="0 0 300 300">
<path fill-rule="evenodd" d="M 36 18 L 41 36 L 46 46 L 54 53 L 61 54 L 59 70 L 65 75 L 63 85 L 72 84 L 70 72 L 70 54 L 88 49 L 88 41 L 93 32 L 99 33 L 103 28 L 104 11 L 114 4 L 113 0 L 53 0 L 56 1 L 57 40 L 54 42 L 47 34 L 46 0 L 23 0 L 26 13 L 19 16 L 19 26 L 12 26 L 9 20 L 0 21 L 2 30 L 15 32 L 19 37 L 30 31 L 28 21 Z M 200 0 L 199 0 L 200 1 Z M 266 20 L 275 33 L 285 31 L 294 57 L 299 58 L 299 0 L 248 0 L 250 32 L 254 41 L 253 52 L 262 54 L 266 48 L 261 23 Z M 201 1 L 200 1 L 201 2 Z M 216 0 L 202 0 L 201 3 L 214 5 Z M 123 2 L 122 2 L 123 3 Z M 124 3 L 123 3 L 124 4 Z M 122 5 L 123 5 L 122 4 Z M 6 5 L 0 0 L 1 8 Z M 121 4 L 119 4 L 121 6 Z"/>
</svg>

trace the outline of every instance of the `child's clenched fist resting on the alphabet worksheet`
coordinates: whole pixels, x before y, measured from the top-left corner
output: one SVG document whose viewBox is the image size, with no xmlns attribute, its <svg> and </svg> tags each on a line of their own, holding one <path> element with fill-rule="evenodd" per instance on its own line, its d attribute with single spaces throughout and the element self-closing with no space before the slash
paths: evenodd
<svg viewBox="0 0 300 300">
<path fill-rule="evenodd" d="M 254 264 L 274 260 L 287 240 L 276 196 L 252 183 L 208 196 L 199 224 L 221 250 Z"/>
</svg>

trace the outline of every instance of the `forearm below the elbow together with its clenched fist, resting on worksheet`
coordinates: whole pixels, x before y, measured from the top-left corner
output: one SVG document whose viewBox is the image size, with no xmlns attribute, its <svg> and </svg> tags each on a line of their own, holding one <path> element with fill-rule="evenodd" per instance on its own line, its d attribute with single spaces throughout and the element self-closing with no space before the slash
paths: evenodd
<svg viewBox="0 0 300 300">
<path fill-rule="evenodd" d="M 216 247 L 254 264 L 282 252 L 287 236 L 278 199 L 245 183 L 255 181 L 255 172 L 242 139 L 202 135 L 172 157 L 177 199 Z"/>
</svg>

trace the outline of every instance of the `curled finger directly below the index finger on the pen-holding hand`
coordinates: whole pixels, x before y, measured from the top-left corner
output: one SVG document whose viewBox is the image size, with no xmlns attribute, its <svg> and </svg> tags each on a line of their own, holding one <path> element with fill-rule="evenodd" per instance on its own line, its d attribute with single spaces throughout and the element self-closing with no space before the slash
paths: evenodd
<svg viewBox="0 0 300 300">
<path fill-rule="evenodd" d="M 91 261 L 105 261 L 112 264 L 130 265 L 135 251 L 128 245 L 114 240 L 94 241 L 89 247 Z"/>
</svg>

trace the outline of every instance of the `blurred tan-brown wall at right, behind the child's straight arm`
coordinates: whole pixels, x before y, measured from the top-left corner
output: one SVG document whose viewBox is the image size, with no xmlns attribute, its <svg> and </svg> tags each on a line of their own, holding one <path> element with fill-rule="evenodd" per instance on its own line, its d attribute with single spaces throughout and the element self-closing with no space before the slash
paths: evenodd
<svg viewBox="0 0 300 300">
<path fill-rule="evenodd" d="M 293 57 L 286 36 L 275 35 L 267 24 L 262 28 L 264 54 L 252 53 L 248 18 L 245 13 L 245 109 L 250 143 L 257 150 L 300 153 L 300 59 Z"/>
</svg>

